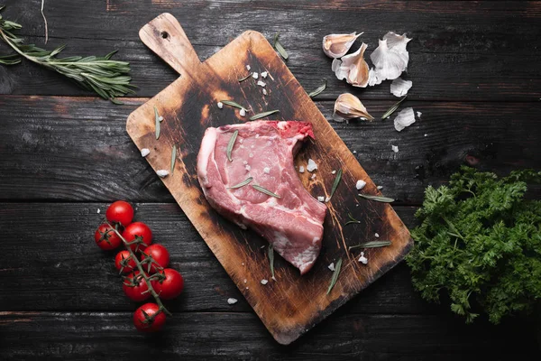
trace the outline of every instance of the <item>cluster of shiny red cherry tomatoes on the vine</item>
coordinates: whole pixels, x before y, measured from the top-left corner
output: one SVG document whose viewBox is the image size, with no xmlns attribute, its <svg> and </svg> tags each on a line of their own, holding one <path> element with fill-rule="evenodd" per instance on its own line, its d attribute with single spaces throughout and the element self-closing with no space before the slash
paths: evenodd
<svg viewBox="0 0 541 361">
<path fill-rule="evenodd" d="M 117 200 L 105 212 L 107 222 L 97 227 L 96 245 L 106 251 L 125 246 L 115 256 L 115 266 L 124 274 L 124 293 L 130 300 L 142 302 L 154 297 L 158 303 L 145 303 L 133 314 L 135 328 L 157 331 L 165 323 L 166 312 L 160 300 L 172 300 L 184 289 L 182 275 L 172 268 L 170 254 L 163 245 L 152 245 L 151 228 L 133 222 L 133 207 Z M 150 285 L 150 287 L 149 287 Z"/>
</svg>

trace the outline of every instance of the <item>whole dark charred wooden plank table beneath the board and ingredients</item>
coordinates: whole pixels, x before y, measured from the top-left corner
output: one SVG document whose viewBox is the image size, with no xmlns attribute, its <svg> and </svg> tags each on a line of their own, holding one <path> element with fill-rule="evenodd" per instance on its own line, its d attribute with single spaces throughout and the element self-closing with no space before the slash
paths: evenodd
<svg viewBox="0 0 541 361">
<path fill-rule="evenodd" d="M 40 0 L 6 0 L 5 17 L 42 44 Z M 206 59 L 247 29 L 280 32 L 289 69 L 307 89 L 329 87 L 317 106 L 331 119 L 349 91 L 374 116 L 396 101 L 389 83 L 356 89 L 335 79 L 321 51 L 329 32 L 364 32 L 369 53 L 385 32 L 408 32 L 413 80 L 406 106 L 423 113 L 398 133 L 392 122 L 333 123 L 409 227 L 428 184 L 463 163 L 505 174 L 541 168 L 541 3 L 242 0 L 46 1 L 48 47 L 66 55 L 118 49 L 133 66 L 136 97 L 101 100 L 26 61 L 0 66 L 0 358 L 457 360 L 540 359 L 528 319 L 465 325 L 412 289 L 406 264 L 289 347 L 281 347 L 243 301 L 214 255 L 124 131 L 126 116 L 176 73 L 139 41 L 143 24 L 174 14 Z M 4 44 L 0 52 L 5 52 Z M 399 153 L 390 150 L 399 145 Z M 137 207 L 172 253 L 186 291 L 168 306 L 167 330 L 133 329 L 114 254 L 93 233 L 107 204 Z M 97 213 L 100 209 L 102 214 Z M 240 301 L 233 306 L 227 298 Z M 158 359 L 158 358 L 156 358 Z"/>
</svg>

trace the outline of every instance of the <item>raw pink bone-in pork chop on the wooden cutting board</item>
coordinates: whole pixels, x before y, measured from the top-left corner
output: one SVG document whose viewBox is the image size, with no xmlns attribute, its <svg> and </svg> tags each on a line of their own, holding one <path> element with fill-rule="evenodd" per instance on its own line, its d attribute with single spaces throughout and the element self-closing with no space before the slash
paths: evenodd
<svg viewBox="0 0 541 361">
<path fill-rule="evenodd" d="M 232 162 L 227 145 L 234 131 Z M 290 264 L 307 273 L 321 249 L 326 206 L 304 189 L 293 165 L 301 142 L 314 137 L 305 122 L 256 121 L 206 129 L 197 177 L 208 203 L 242 228 L 265 237 Z M 252 182 L 229 189 L 252 177 Z M 279 195 L 269 196 L 252 185 Z"/>
</svg>

